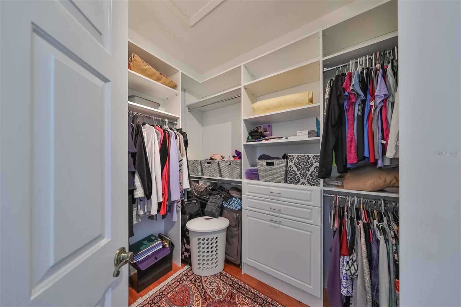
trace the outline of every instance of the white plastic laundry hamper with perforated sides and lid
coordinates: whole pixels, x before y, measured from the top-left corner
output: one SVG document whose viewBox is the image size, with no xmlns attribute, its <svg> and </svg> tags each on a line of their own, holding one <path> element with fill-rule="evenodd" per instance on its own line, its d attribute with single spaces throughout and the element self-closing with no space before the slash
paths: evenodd
<svg viewBox="0 0 461 307">
<path fill-rule="evenodd" d="M 224 269 L 227 226 L 229 220 L 221 216 L 202 216 L 187 222 L 192 272 L 195 275 L 210 276 Z"/>
</svg>

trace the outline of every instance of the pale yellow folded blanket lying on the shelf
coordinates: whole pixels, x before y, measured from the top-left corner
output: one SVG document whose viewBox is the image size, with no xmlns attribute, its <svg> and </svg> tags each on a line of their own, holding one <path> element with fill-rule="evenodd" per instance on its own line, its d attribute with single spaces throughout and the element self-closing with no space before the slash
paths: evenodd
<svg viewBox="0 0 461 307">
<path fill-rule="evenodd" d="M 255 102 L 251 107 L 254 115 L 292 109 L 313 104 L 313 92 L 301 92 Z"/>
</svg>

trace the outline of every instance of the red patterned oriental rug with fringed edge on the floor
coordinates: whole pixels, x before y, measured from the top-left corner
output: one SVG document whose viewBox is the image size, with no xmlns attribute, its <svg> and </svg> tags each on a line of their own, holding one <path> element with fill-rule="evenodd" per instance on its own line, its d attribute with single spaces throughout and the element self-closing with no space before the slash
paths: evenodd
<svg viewBox="0 0 461 307">
<path fill-rule="evenodd" d="M 235 277 L 222 271 L 197 276 L 185 267 L 130 307 L 283 307 Z"/>
</svg>

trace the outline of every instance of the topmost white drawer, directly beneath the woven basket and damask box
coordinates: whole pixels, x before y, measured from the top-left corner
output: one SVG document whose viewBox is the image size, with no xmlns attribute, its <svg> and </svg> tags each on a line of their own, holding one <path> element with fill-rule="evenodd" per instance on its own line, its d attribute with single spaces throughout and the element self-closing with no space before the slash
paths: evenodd
<svg viewBox="0 0 461 307">
<path fill-rule="evenodd" d="M 242 194 L 313 207 L 320 207 L 321 204 L 321 190 L 319 187 L 269 183 L 257 180 L 254 182 L 244 181 L 242 182 Z"/>
</svg>

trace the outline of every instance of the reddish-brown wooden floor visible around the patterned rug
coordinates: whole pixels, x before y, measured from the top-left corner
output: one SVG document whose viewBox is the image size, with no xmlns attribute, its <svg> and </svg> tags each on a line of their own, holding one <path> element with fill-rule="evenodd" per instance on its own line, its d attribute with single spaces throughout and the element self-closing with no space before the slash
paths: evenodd
<svg viewBox="0 0 461 307">
<path fill-rule="evenodd" d="M 151 284 L 148 286 L 146 289 L 142 290 L 140 293 L 137 293 L 133 288 L 129 287 L 128 288 L 128 303 L 129 305 L 133 304 L 139 297 L 142 297 L 146 295 L 150 290 L 154 289 L 157 287 L 160 283 L 163 283 L 166 279 L 171 277 L 174 273 L 179 271 L 181 268 L 184 267 L 184 264 L 181 266 L 177 266 L 173 264 L 173 270 L 166 274 L 164 277 L 160 278 L 157 280 L 155 283 Z M 253 278 L 247 274 L 242 274 L 242 270 L 226 261 L 224 264 L 224 271 L 231 274 L 233 277 L 236 277 L 237 279 L 241 280 L 242 282 L 248 284 L 250 287 L 260 291 L 262 294 L 269 296 L 275 301 L 278 301 L 280 304 L 286 306 L 286 307 L 305 307 L 307 305 L 301 303 L 298 300 L 295 300 L 291 296 L 288 296 L 277 289 L 272 288 L 271 286 L 266 285 L 265 283 L 257 280 L 256 278 Z M 324 289 L 324 307 L 328 307 L 328 299 L 326 298 L 326 290 Z"/>
</svg>

